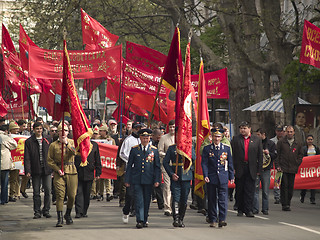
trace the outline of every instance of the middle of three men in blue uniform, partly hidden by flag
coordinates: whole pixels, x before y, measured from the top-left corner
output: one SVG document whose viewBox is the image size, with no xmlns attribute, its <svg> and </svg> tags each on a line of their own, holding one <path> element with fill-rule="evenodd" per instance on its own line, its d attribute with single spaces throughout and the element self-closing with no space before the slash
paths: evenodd
<svg viewBox="0 0 320 240">
<path fill-rule="evenodd" d="M 176 127 L 176 134 L 177 134 Z M 183 223 L 184 215 L 187 209 L 187 200 L 190 192 L 190 181 L 192 180 L 192 170 L 184 170 L 184 159 L 179 154 L 177 161 L 176 144 L 171 145 L 163 159 L 163 167 L 171 179 L 171 195 L 172 195 L 172 216 L 174 227 L 185 227 Z M 194 149 L 192 148 L 192 160 L 196 158 Z M 171 162 L 171 165 L 170 165 Z M 178 167 L 176 167 L 178 165 Z M 177 169 L 177 171 L 176 171 Z"/>
</svg>

